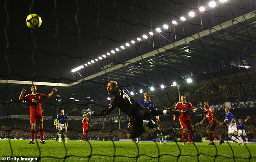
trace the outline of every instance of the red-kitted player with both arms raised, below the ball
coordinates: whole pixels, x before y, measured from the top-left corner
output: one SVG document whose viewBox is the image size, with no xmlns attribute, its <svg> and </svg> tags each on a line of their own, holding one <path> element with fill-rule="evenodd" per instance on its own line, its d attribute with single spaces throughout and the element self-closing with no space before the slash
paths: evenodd
<svg viewBox="0 0 256 162">
<path fill-rule="evenodd" d="M 53 88 L 50 94 L 42 94 L 36 92 L 36 86 L 31 86 L 31 94 L 25 94 L 26 90 L 24 88 L 21 89 L 21 94 L 19 95 L 19 100 L 28 100 L 29 103 L 29 113 L 30 113 L 30 123 L 31 123 L 31 141 L 29 144 L 35 144 L 35 133 L 36 133 L 36 123 L 39 125 L 39 133 L 40 133 L 40 143 L 45 144 L 44 141 L 44 127 L 43 127 L 43 115 L 42 115 L 42 99 L 50 98 L 55 92 L 57 92 L 57 88 Z"/>
</svg>

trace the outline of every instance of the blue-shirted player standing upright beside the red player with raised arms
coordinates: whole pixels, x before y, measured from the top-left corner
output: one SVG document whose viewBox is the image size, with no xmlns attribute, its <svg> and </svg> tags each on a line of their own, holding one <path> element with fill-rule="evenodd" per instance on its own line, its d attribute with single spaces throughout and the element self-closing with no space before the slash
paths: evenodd
<svg viewBox="0 0 256 162">
<path fill-rule="evenodd" d="M 64 113 L 64 109 L 61 109 L 61 113 L 57 116 L 57 120 L 59 120 L 59 142 L 61 143 L 61 131 L 64 130 L 64 141 L 67 143 L 67 127 L 69 123 L 69 118 L 67 114 Z"/>
</svg>

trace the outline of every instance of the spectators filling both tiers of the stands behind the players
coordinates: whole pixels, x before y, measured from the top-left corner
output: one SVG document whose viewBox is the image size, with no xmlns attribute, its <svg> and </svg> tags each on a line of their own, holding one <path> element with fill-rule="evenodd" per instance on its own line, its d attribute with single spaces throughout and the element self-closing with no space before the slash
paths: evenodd
<svg viewBox="0 0 256 162">
<path fill-rule="evenodd" d="M 252 78 L 256 76 L 254 74 L 251 75 Z M 243 82 L 239 81 L 243 78 Z M 180 88 L 180 93 L 185 94 L 192 105 L 197 107 L 197 114 L 192 115 L 193 124 L 195 125 L 194 138 L 202 139 L 206 137 L 206 124 L 197 125 L 199 121 L 203 118 L 203 112 L 200 111 L 202 109 L 202 102 L 208 101 L 210 105 L 223 105 L 225 102 L 238 103 L 252 101 L 255 104 L 256 100 L 256 80 L 244 77 L 243 74 L 236 74 L 234 76 L 229 76 L 223 79 L 214 79 L 208 80 L 204 82 L 200 82 L 200 84 L 192 85 L 189 88 L 185 85 L 184 88 Z M 174 105 L 178 102 L 178 90 L 177 88 L 169 87 L 166 90 L 156 90 L 151 93 L 153 101 L 157 104 L 158 109 L 164 109 L 167 107 L 174 107 Z M 138 98 L 138 100 L 143 99 L 142 94 L 137 94 L 133 98 Z M 97 103 L 101 105 L 101 103 Z M 104 101 L 102 105 L 106 105 Z M 231 107 L 231 112 L 233 115 L 236 115 L 236 118 L 246 117 L 247 115 L 254 115 L 251 113 L 255 113 L 256 105 L 243 105 L 248 111 L 240 110 L 236 104 L 233 104 Z M 50 103 L 44 103 L 42 107 L 44 116 L 52 116 L 52 120 L 44 120 L 44 137 L 51 138 L 56 136 L 57 130 L 53 126 L 53 120 L 56 117 L 58 111 L 61 108 L 65 109 L 65 113 L 71 116 L 81 116 L 81 110 L 86 109 L 88 105 L 78 105 L 75 103 L 63 103 L 62 105 L 52 105 Z M 94 110 L 103 109 L 102 107 L 92 105 Z M 27 103 L 13 101 L 8 104 L 1 104 L 0 114 L 7 115 L 29 115 L 29 107 Z M 253 111 L 251 111 L 253 110 Z M 217 111 L 217 110 L 215 110 Z M 118 109 L 113 111 L 111 115 L 118 115 Z M 223 121 L 224 119 L 224 110 L 220 109 L 217 112 L 217 118 L 219 121 Z M 165 116 L 160 117 L 161 123 L 160 128 L 163 131 L 164 135 L 168 136 L 169 139 L 174 139 L 175 137 L 180 136 L 181 131 L 179 130 L 180 125 L 178 121 L 174 122 L 172 117 Z M 82 135 L 82 116 L 81 120 L 71 120 L 68 127 L 68 137 L 69 139 L 80 139 Z M 93 139 L 126 139 L 126 127 L 128 121 L 121 122 L 121 130 L 118 129 L 118 123 L 113 121 L 103 123 L 91 123 L 93 127 L 90 130 L 90 138 Z M 249 136 L 249 139 L 256 138 L 256 129 L 255 129 L 255 119 L 251 119 L 246 123 L 246 132 Z M 29 128 L 29 120 L 25 119 L 0 119 L 0 138 L 29 138 L 30 130 Z M 227 135 L 227 127 L 217 127 L 216 133 L 220 135 Z M 144 133 L 141 137 L 142 139 L 154 139 L 154 133 Z"/>
</svg>

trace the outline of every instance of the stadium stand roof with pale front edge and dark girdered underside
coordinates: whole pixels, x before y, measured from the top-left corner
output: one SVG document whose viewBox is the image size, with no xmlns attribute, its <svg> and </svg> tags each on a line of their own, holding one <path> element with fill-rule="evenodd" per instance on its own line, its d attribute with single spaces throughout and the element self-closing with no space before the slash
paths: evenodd
<svg viewBox="0 0 256 162">
<path fill-rule="evenodd" d="M 230 69 L 235 67 L 239 70 L 247 69 L 245 66 L 255 68 L 252 55 L 256 51 L 253 41 L 256 37 L 255 25 L 255 12 L 249 12 L 164 47 L 155 47 L 128 61 L 112 64 L 74 82 L 0 80 L 0 98 L 2 102 L 17 100 L 21 88 L 30 92 L 29 85 L 33 83 L 37 85 L 38 92 L 44 94 L 57 86 L 59 91 L 55 98 L 61 98 L 63 102 L 70 102 L 70 97 L 80 102 L 90 102 L 90 99 L 106 99 L 109 80 L 116 80 L 122 88 L 137 92 L 149 86 L 170 86 L 173 81 L 185 84 L 183 79 L 189 76 L 199 81 L 232 74 Z"/>
</svg>

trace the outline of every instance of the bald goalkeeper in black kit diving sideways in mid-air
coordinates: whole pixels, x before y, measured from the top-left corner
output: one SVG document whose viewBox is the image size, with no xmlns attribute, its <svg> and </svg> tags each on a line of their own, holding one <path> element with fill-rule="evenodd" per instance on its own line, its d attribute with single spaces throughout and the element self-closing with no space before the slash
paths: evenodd
<svg viewBox="0 0 256 162">
<path fill-rule="evenodd" d="M 112 95 L 109 106 L 104 111 L 92 111 L 90 109 L 82 110 L 82 115 L 104 116 L 108 115 L 113 109 L 119 108 L 123 113 L 128 115 L 130 122 L 128 123 L 128 139 L 139 137 L 151 128 L 157 127 L 155 123 L 143 123 L 144 118 L 152 116 L 174 114 L 181 115 L 178 110 L 149 110 L 141 104 L 135 102 L 124 90 L 118 87 L 118 83 L 110 81 L 107 84 L 107 93 Z"/>
</svg>

